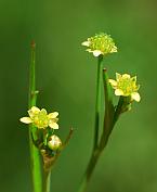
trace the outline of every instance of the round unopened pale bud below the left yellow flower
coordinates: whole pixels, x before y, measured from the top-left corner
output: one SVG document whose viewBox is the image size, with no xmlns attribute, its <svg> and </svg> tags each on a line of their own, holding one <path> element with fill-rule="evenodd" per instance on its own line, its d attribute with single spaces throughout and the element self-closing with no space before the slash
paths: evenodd
<svg viewBox="0 0 157 192">
<path fill-rule="evenodd" d="M 62 145 L 62 141 L 57 136 L 53 135 L 50 137 L 49 142 L 48 142 L 48 146 L 51 150 L 56 151 L 61 148 L 61 145 Z"/>
</svg>

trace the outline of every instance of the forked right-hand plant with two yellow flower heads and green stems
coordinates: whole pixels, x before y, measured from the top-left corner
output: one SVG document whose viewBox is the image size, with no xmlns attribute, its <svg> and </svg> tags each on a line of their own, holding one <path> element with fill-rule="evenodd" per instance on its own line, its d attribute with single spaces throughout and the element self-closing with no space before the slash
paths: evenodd
<svg viewBox="0 0 157 192">
<path fill-rule="evenodd" d="M 116 73 L 116 80 L 108 78 L 108 69 L 104 68 L 103 62 L 109 53 L 117 52 L 117 46 L 109 35 L 104 33 L 96 34 L 83 41 L 82 46 L 87 47 L 86 51 L 93 53 L 93 56 L 97 57 L 97 84 L 93 150 L 79 192 L 86 191 L 97 159 L 105 149 L 120 115 L 131 110 L 133 101 L 140 102 L 141 100 L 136 76 L 131 77 L 129 74 L 120 75 Z M 113 101 L 112 88 L 115 90 L 115 94 L 119 97 L 119 101 L 116 104 Z M 103 98 L 102 91 L 104 92 Z M 103 112 L 102 105 L 105 105 L 105 112 Z M 104 119 L 101 118 L 103 114 L 105 114 Z M 103 128 L 101 128 L 101 125 L 103 125 Z M 100 131 L 102 129 L 103 132 Z"/>
</svg>

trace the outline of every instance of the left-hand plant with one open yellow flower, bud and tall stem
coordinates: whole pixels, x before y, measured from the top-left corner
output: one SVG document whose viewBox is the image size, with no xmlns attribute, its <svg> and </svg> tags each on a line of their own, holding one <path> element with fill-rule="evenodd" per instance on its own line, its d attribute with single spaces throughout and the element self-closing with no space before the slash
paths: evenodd
<svg viewBox="0 0 157 192">
<path fill-rule="evenodd" d="M 31 42 L 31 61 L 29 66 L 28 116 L 19 120 L 28 125 L 31 180 L 34 192 L 49 192 L 51 188 L 51 169 L 67 145 L 73 129 L 65 142 L 62 142 L 54 132 L 58 129 L 58 112 L 48 113 L 44 108 L 38 108 L 36 90 L 36 43 Z M 42 163 L 40 161 L 42 156 Z"/>
</svg>

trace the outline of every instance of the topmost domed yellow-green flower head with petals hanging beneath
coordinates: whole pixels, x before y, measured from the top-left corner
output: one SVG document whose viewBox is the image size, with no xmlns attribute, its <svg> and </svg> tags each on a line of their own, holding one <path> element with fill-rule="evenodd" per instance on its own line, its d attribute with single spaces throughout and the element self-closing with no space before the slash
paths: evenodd
<svg viewBox="0 0 157 192">
<path fill-rule="evenodd" d="M 88 38 L 87 41 L 82 42 L 82 46 L 88 47 L 87 51 L 92 52 L 94 56 L 117 52 L 113 38 L 104 33 Z"/>
</svg>

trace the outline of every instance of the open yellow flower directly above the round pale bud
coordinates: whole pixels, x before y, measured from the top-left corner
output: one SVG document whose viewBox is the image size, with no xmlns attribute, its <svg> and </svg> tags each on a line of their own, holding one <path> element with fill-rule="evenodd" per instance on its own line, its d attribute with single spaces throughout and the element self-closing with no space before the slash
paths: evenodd
<svg viewBox="0 0 157 192">
<path fill-rule="evenodd" d="M 37 106 L 32 106 L 28 111 L 29 117 L 23 117 L 19 120 L 24 124 L 34 124 L 39 129 L 44 129 L 48 126 L 52 129 L 58 129 L 58 125 L 56 124 L 58 118 L 57 112 L 53 112 L 48 114 L 44 108 L 41 111 Z"/>
</svg>

